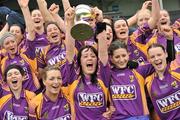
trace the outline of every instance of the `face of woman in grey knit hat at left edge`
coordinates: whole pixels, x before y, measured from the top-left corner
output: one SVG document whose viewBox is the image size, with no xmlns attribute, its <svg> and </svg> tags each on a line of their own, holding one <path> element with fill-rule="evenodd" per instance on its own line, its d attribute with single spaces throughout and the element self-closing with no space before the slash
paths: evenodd
<svg viewBox="0 0 180 120">
<path fill-rule="evenodd" d="M 15 37 L 9 36 L 3 42 L 3 48 L 9 53 L 10 55 L 14 55 L 17 52 L 17 41 Z"/>
</svg>

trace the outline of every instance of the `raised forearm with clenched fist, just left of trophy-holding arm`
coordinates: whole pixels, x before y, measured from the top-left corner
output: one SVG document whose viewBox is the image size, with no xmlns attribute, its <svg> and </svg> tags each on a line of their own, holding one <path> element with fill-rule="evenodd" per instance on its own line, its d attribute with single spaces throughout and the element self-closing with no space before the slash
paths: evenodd
<svg viewBox="0 0 180 120">
<path fill-rule="evenodd" d="M 49 11 L 50 11 L 52 17 L 54 18 L 54 20 L 57 22 L 59 28 L 65 33 L 64 20 L 58 14 L 58 12 L 59 12 L 59 5 L 56 5 L 55 3 L 53 3 L 50 6 Z"/>
</svg>

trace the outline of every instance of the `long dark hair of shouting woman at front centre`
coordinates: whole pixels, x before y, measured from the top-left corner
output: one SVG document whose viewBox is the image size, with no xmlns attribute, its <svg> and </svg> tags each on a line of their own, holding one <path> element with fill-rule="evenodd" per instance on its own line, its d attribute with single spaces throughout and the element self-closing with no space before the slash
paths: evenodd
<svg viewBox="0 0 180 120">
<path fill-rule="evenodd" d="M 97 50 L 93 46 L 86 45 L 86 46 L 83 46 L 79 50 L 78 55 L 77 55 L 77 62 L 78 62 L 78 66 L 80 67 L 79 76 L 81 76 L 83 82 L 84 82 L 84 73 L 82 71 L 81 56 L 82 56 L 82 51 L 84 49 L 87 49 L 86 51 L 92 50 L 94 52 L 94 54 L 96 55 L 96 57 L 98 58 L 98 52 L 97 52 Z M 92 84 L 96 84 L 97 83 L 97 69 L 98 69 L 98 65 L 96 66 L 95 72 L 91 75 L 91 83 Z"/>
</svg>

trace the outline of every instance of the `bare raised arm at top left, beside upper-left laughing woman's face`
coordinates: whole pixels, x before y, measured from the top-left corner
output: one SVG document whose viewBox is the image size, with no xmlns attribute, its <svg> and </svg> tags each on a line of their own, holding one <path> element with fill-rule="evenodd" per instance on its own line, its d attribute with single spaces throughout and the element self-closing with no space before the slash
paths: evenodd
<svg viewBox="0 0 180 120">
<path fill-rule="evenodd" d="M 34 31 L 34 24 L 31 20 L 31 14 L 28 7 L 29 0 L 18 0 L 18 3 L 24 15 L 24 19 L 26 23 L 26 30 L 28 32 L 27 39 L 34 40 L 35 31 Z"/>
</svg>

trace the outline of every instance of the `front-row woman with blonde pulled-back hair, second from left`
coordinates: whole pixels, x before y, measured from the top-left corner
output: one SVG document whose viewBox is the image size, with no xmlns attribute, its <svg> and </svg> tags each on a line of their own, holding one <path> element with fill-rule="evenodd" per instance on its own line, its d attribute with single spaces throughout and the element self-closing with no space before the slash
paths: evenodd
<svg viewBox="0 0 180 120">
<path fill-rule="evenodd" d="M 32 99 L 30 120 L 71 120 L 62 75 L 57 66 L 47 66 L 42 74 L 45 90 Z"/>
</svg>

